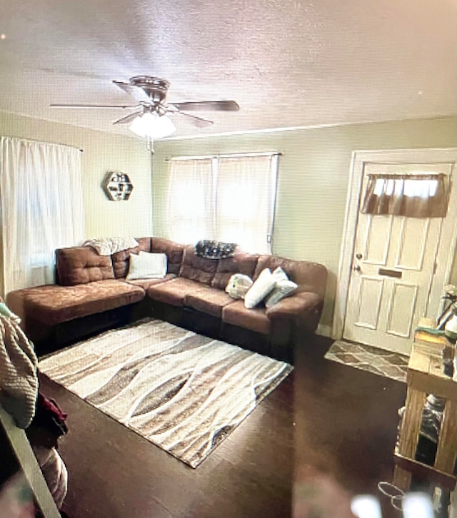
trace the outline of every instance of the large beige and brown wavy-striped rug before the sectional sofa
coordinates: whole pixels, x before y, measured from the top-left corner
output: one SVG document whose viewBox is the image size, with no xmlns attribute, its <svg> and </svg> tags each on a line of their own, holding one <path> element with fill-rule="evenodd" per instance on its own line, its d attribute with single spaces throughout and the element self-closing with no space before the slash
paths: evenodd
<svg viewBox="0 0 457 518">
<path fill-rule="evenodd" d="M 161 320 L 39 362 L 51 380 L 197 467 L 293 367 Z"/>
</svg>

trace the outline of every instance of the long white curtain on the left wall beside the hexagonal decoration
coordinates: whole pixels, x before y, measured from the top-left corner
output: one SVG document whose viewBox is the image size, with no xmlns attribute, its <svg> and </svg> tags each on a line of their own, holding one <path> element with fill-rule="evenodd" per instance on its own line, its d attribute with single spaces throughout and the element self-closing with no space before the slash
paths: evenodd
<svg viewBox="0 0 457 518">
<path fill-rule="evenodd" d="M 81 152 L 0 138 L 2 292 L 54 282 L 54 250 L 81 243 Z"/>
</svg>

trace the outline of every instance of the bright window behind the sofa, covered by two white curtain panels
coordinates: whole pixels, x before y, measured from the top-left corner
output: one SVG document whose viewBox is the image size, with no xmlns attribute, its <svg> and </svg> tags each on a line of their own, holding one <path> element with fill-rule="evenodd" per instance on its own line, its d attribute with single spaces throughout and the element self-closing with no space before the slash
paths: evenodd
<svg viewBox="0 0 457 518">
<path fill-rule="evenodd" d="M 179 243 L 211 239 L 271 253 L 278 154 L 173 158 L 167 234 Z"/>
</svg>

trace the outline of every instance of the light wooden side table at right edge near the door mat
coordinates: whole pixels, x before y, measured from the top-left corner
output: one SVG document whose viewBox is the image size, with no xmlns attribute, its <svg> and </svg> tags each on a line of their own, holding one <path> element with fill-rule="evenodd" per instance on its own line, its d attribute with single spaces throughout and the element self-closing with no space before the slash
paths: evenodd
<svg viewBox="0 0 457 518">
<path fill-rule="evenodd" d="M 453 469 L 457 457 L 457 381 L 443 372 L 441 350 L 446 338 L 418 332 L 414 340 L 406 376 L 406 409 L 394 454 L 396 467 L 393 483 L 403 491 L 408 491 L 411 474 L 417 474 L 453 489 L 456 485 Z M 422 412 L 428 394 L 446 399 L 433 466 L 415 459 Z"/>
</svg>

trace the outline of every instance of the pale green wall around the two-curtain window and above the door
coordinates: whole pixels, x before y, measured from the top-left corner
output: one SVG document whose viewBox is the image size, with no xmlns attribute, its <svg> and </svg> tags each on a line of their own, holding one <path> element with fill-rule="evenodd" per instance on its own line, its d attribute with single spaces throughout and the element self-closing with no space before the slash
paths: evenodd
<svg viewBox="0 0 457 518">
<path fill-rule="evenodd" d="M 457 118 L 156 142 L 154 230 L 156 235 L 164 235 L 166 228 L 166 157 L 281 151 L 273 253 L 326 265 L 329 279 L 321 323 L 329 326 L 336 293 L 352 151 L 440 147 L 457 147 Z M 454 275 L 457 280 L 457 265 Z"/>
</svg>

